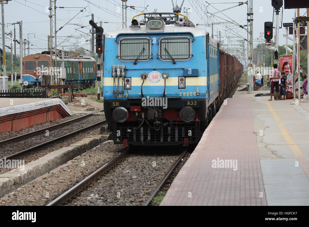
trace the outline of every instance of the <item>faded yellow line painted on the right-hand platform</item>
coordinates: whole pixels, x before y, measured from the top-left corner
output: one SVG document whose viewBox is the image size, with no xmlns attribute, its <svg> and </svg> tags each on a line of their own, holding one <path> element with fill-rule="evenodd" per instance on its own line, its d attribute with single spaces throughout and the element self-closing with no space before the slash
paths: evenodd
<svg viewBox="0 0 309 227">
<path fill-rule="evenodd" d="M 280 130 L 281 130 L 281 132 L 283 134 L 283 137 L 285 138 L 285 140 L 290 145 L 290 148 L 294 152 L 294 154 L 295 154 L 295 156 L 297 158 L 297 161 L 299 162 L 300 166 L 302 167 L 304 173 L 306 174 L 306 176 L 307 176 L 307 178 L 309 180 L 309 162 L 308 162 L 307 158 L 305 157 L 303 152 L 300 151 L 299 147 L 295 144 L 295 142 L 293 141 L 292 137 L 290 136 L 288 130 L 286 129 L 286 127 L 284 126 L 283 122 L 280 120 L 280 117 L 274 111 L 274 109 L 270 105 L 270 103 L 266 101 L 266 104 L 267 104 L 270 112 L 273 114 L 273 117 L 277 121 L 277 124 L 278 124 L 278 126 L 279 126 L 279 128 L 280 128 Z"/>
</svg>

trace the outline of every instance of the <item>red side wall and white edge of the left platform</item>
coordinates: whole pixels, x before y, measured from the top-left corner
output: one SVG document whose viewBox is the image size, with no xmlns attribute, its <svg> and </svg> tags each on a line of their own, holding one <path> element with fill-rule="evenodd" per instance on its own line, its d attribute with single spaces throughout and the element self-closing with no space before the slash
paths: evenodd
<svg viewBox="0 0 309 227">
<path fill-rule="evenodd" d="M 57 101 L 55 101 L 55 99 L 50 101 L 51 102 L 48 100 L 44 102 L 6 107 L 7 113 L 13 113 L 0 116 L 0 132 L 16 132 L 35 124 L 40 124 L 46 121 L 60 119 L 72 115 L 72 112 L 67 109 L 67 107 L 60 99 Z M 2 108 L 2 110 L 3 109 L 5 108 Z M 28 109 L 32 110 L 24 111 Z"/>
</svg>

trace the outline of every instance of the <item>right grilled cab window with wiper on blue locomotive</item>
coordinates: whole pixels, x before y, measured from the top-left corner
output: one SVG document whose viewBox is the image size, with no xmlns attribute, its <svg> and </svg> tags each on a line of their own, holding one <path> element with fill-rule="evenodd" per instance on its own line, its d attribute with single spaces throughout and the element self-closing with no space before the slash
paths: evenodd
<svg viewBox="0 0 309 227">
<path fill-rule="evenodd" d="M 192 57 L 189 36 L 164 36 L 159 40 L 159 58 L 163 61 L 188 60 Z"/>
</svg>

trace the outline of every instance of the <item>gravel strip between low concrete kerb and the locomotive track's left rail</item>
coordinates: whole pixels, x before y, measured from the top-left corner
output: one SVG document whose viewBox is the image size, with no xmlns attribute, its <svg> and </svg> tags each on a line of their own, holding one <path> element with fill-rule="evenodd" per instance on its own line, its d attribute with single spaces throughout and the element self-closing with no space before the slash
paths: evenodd
<svg viewBox="0 0 309 227">
<path fill-rule="evenodd" d="M 46 205 L 123 151 L 107 141 L 0 198 L 0 205 Z"/>
</svg>

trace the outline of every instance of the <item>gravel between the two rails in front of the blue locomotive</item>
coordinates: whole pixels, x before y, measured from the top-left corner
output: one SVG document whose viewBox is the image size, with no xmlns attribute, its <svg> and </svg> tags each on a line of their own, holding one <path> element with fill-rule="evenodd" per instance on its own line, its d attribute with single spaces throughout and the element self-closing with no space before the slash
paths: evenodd
<svg viewBox="0 0 309 227">
<path fill-rule="evenodd" d="M 119 166 L 67 205 L 143 205 L 182 151 L 174 150 L 130 153 Z"/>
</svg>

